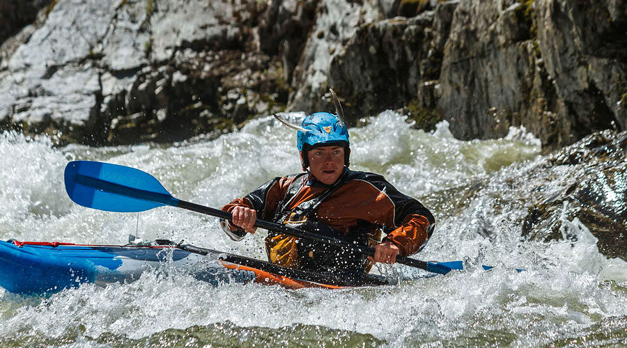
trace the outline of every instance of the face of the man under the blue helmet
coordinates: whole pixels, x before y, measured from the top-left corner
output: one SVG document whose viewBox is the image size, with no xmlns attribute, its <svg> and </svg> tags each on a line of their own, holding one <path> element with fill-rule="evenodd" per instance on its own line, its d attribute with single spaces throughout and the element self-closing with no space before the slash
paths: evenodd
<svg viewBox="0 0 627 348">
<path fill-rule="evenodd" d="M 344 148 L 320 146 L 307 152 L 309 173 L 323 184 L 333 184 L 344 170 Z"/>
</svg>

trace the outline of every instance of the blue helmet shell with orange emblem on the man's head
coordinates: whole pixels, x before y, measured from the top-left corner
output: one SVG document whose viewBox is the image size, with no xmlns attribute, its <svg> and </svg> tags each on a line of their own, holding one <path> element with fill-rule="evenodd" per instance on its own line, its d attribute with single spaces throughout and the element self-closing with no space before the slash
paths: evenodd
<svg viewBox="0 0 627 348">
<path fill-rule="evenodd" d="M 305 117 L 300 122 L 296 133 L 296 148 L 301 152 L 307 152 L 320 145 L 339 145 L 344 148 L 344 165 L 350 164 L 350 142 L 348 141 L 348 127 L 338 116 L 317 112 Z M 302 154 L 302 168 L 309 167 L 307 153 Z"/>
</svg>

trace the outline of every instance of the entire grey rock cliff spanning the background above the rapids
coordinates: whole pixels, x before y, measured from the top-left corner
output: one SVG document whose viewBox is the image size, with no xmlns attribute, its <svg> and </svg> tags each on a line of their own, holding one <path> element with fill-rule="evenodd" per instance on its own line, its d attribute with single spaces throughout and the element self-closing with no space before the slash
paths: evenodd
<svg viewBox="0 0 627 348">
<path fill-rule="evenodd" d="M 352 125 L 404 109 L 424 129 L 449 120 L 460 139 L 524 125 L 545 150 L 627 127 L 627 0 L 2 6 L 15 11 L 0 17 L 0 125 L 61 141 L 228 132 L 272 112 L 332 111 L 328 88 Z"/>
</svg>

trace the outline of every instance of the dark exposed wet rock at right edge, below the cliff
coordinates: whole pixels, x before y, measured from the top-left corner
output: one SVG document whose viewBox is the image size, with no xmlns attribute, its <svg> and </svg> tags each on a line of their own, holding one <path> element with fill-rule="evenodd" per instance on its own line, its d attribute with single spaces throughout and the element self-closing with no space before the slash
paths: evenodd
<svg viewBox="0 0 627 348">
<path fill-rule="evenodd" d="M 524 218 L 522 235 L 531 240 L 568 239 L 562 221 L 576 218 L 598 238 L 601 253 L 627 260 L 626 136 L 627 132 L 610 131 L 587 136 L 533 168 L 545 177 L 536 184 L 537 201 Z M 553 177 L 565 171 L 568 180 Z M 560 181 L 568 184 L 543 197 L 543 185 Z"/>
</svg>

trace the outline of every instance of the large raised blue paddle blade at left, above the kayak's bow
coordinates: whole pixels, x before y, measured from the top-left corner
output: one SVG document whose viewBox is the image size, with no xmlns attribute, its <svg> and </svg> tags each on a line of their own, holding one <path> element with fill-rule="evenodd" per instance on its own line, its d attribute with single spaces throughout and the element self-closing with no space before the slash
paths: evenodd
<svg viewBox="0 0 627 348">
<path fill-rule="evenodd" d="M 143 212 L 163 205 L 178 205 L 178 199 L 153 175 L 96 161 L 68 163 L 65 191 L 75 203 L 107 212 Z"/>
</svg>

